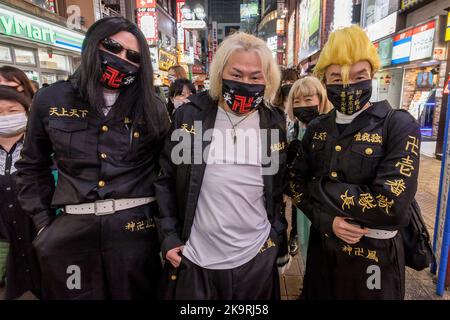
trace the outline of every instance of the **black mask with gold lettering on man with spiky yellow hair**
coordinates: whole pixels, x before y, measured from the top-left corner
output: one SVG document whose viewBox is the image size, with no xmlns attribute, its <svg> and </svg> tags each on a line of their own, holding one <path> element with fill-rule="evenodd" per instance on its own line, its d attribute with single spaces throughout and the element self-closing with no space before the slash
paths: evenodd
<svg viewBox="0 0 450 320">
<path fill-rule="evenodd" d="M 347 87 L 342 84 L 329 84 L 327 94 L 328 100 L 337 111 L 350 116 L 369 102 L 372 96 L 372 80 L 353 83 Z"/>
</svg>

